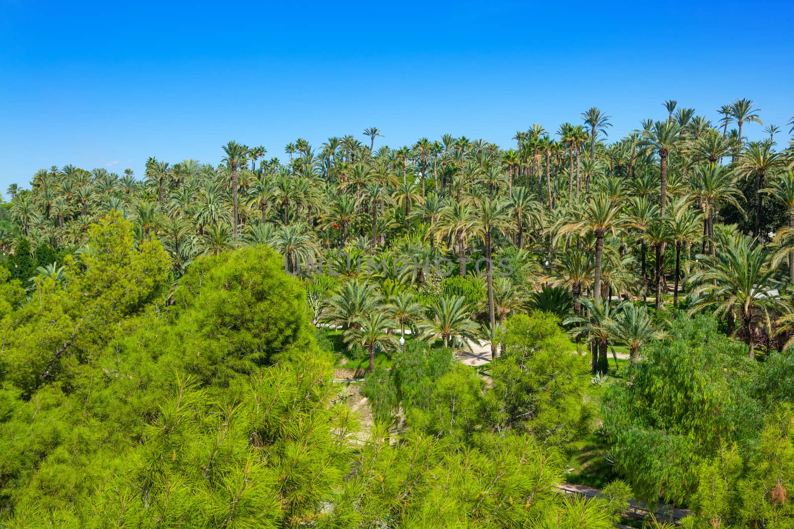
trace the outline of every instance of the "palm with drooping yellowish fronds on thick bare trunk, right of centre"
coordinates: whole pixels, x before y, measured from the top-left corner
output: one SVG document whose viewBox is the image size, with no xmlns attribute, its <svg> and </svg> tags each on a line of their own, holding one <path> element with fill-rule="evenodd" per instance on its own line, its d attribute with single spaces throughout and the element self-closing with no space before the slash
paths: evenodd
<svg viewBox="0 0 794 529">
<path fill-rule="evenodd" d="M 595 236 L 595 263 L 593 279 L 593 297 L 601 299 L 601 261 L 603 258 L 603 238 L 611 233 L 616 236 L 628 226 L 628 221 L 621 215 L 621 205 L 615 205 L 605 194 L 596 194 L 579 209 L 572 211 L 572 219 L 564 219 L 557 228 L 557 237 L 569 233 Z"/>
</svg>

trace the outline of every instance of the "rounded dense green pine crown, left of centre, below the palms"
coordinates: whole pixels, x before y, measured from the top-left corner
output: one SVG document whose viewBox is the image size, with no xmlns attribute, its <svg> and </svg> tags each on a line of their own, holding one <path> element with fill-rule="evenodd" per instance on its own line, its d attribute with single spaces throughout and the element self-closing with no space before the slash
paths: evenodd
<svg viewBox="0 0 794 529">
<path fill-rule="evenodd" d="M 198 259 L 173 299 L 179 309 L 173 347 L 205 381 L 222 383 L 295 358 L 313 343 L 306 294 L 268 247 Z"/>
</svg>

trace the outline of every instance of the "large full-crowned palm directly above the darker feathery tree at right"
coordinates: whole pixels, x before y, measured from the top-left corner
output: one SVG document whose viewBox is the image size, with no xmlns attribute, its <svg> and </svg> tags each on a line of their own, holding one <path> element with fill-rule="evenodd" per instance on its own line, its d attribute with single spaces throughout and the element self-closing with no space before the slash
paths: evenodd
<svg viewBox="0 0 794 529">
<path fill-rule="evenodd" d="M 688 278 L 696 285 L 692 294 L 698 297 L 690 312 L 714 309 L 716 316 L 727 315 L 729 319 L 738 314 L 740 337 L 750 348 L 750 358 L 754 358 L 754 320 L 760 316 L 770 332 L 773 313 L 781 314 L 785 309 L 777 294 L 780 283 L 776 270 L 769 266 L 767 247 L 754 246 L 750 237 L 740 235 L 728 240 L 716 258 L 705 264 Z"/>
</svg>

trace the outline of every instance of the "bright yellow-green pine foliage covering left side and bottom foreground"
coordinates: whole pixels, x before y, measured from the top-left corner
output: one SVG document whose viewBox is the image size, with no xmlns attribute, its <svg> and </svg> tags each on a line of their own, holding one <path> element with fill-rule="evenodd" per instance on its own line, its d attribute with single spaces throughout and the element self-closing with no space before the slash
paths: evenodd
<svg viewBox="0 0 794 529">
<path fill-rule="evenodd" d="M 106 217 L 27 303 L 0 283 L 2 527 L 612 527 L 612 500 L 556 492 L 548 438 L 488 424 L 491 389 L 448 349 L 412 340 L 368 378 L 409 426 L 362 436 L 275 252 L 198 259 L 168 289 L 132 231 Z"/>
</svg>

